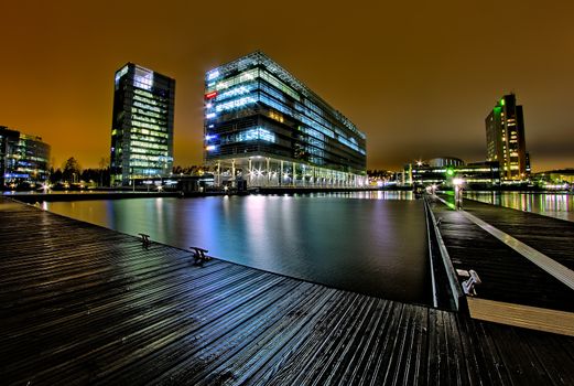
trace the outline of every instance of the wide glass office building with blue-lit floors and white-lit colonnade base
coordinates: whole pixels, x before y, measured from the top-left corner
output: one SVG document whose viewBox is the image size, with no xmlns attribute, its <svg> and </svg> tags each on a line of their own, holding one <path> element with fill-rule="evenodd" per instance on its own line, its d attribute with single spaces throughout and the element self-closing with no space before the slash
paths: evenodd
<svg viewBox="0 0 574 386">
<path fill-rule="evenodd" d="M 204 98 L 216 184 L 367 184 L 365 133 L 263 53 L 209 71 Z"/>
</svg>

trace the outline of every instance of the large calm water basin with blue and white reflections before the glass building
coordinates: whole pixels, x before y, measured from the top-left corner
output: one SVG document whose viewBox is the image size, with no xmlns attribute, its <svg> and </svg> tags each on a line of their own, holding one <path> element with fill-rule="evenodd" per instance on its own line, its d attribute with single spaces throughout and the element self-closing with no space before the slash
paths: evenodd
<svg viewBox="0 0 574 386">
<path fill-rule="evenodd" d="M 326 286 L 429 303 L 421 201 L 376 192 L 314 196 L 44 203 L 51 212 Z"/>
</svg>

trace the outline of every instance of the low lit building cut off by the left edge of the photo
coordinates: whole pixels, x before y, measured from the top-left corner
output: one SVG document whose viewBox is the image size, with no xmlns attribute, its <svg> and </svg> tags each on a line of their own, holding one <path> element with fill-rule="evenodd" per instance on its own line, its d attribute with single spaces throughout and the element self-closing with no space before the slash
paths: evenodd
<svg viewBox="0 0 574 386">
<path fill-rule="evenodd" d="M 0 126 L 0 185 L 33 186 L 47 180 L 50 150 L 40 137 Z"/>
</svg>

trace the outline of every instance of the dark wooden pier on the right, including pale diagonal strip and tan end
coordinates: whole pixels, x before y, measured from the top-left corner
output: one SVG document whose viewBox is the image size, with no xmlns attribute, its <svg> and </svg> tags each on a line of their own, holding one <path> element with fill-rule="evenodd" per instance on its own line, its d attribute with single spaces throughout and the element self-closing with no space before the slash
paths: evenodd
<svg viewBox="0 0 574 386">
<path fill-rule="evenodd" d="M 452 205 L 445 205 L 448 200 L 452 197 L 436 197 L 432 207 L 435 217 L 442 218 L 440 230 L 454 268 L 473 269 L 480 277 L 477 294 L 467 297 L 470 314 L 574 335 L 572 270 L 563 265 L 571 261 L 572 248 L 544 248 L 552 251 L 551 258 L 537 250 L 542 244 L 535 244 L 537 249 L 527 244 L 538 233 L 557 228 L 562 233 L 553 234 L 553 238 L 564 246 L 574 223 L 469 200 L 465 200 L 464 211 L 453 211 Z M 499 223 L 507 232 L 498 228 Z M 515 229 L 519 229 L 521 240 L 515 237 Z M 461 277 L 459 281 L 465 279 Z"/>
</svg>

